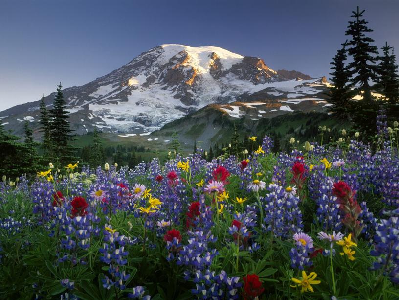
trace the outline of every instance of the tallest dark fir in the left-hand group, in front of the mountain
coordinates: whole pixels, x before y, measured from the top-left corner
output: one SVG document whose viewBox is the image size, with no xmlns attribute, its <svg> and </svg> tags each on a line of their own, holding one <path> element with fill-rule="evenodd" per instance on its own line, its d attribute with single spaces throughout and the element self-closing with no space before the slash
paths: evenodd
<svg viewBox="0 0 399 300">
<path fill-rule="evenodd" d="M 50 110 L 51 141 L 54 154 L 57 156 L 61 165 L 74 162 L 76 160 L 74 148 L 70 145 L 71 129 L 69 127 L 61 83 L 57 86 L 57 93 L 54 98 L 53 109 Z"/>
</svg>

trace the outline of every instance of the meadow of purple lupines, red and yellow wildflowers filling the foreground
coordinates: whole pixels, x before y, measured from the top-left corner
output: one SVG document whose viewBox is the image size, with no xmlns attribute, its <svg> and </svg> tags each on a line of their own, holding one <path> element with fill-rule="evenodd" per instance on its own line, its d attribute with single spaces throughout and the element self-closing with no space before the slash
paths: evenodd
<svg viewBox="0 0 399 300">
<path fill-rule="evenodd" d="M 358 136 L 3 177 L 0 298 L 399 299 L 398 124 Z"/>
</svg>

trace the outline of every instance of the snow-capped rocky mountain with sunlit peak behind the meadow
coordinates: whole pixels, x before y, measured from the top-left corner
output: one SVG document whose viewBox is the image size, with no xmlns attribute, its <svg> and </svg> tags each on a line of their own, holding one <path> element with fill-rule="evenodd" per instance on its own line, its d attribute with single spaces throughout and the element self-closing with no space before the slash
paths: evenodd
<svg viewBox="0 0 399 300">
<path fill-rule="evenodd" d="M 252 101 L 260 95 L 271 101 L 314 100 L 326 84 L 297 71 L 275 71 L 260 58 L 219 47 L 166 44 L 143 52 L 108 75 L 63 92 L 71 128 L 78 134 L 95 127 L 147 133 L 208 104 Z M 54 95 L 44 98 L 48 109 Z M 0 112 L 0 118 L 5 128 L 21 133 L 23 120 L 38 125 L 39 101 Z"/>
</svg>

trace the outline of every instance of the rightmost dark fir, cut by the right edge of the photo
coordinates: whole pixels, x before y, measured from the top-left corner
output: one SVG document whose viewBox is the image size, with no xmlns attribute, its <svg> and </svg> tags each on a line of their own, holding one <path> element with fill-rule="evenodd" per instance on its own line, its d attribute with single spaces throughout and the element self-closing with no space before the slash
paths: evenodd
<svg viewBox="0 0 399 300">
<path fill-rule="evenodd" d="M 388 99 L 390 104 L 396 104 L 399 101 L 399 75 L 397 73 L 396 56 L 393 48 L 387 42 L 381 49 L 383 55 L 379 57 L 378 91 Z"/>
</svg>

